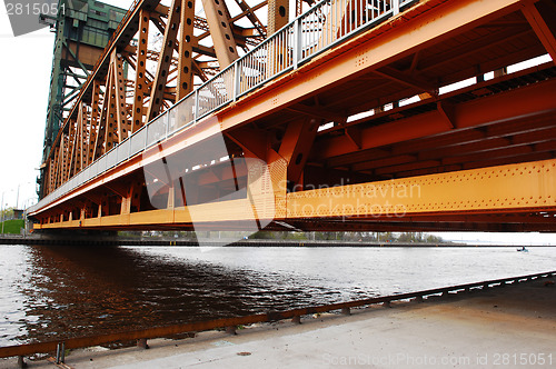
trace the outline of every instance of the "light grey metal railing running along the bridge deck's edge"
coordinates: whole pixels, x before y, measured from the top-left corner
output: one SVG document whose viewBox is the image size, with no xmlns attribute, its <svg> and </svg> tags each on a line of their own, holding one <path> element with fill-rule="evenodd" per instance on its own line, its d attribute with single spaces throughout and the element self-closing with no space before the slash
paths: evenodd
<svg viewBox="0 0 556 369">
<path fill-rule="evenodd" d="M 418 0 L 324 0 L 206 81 L 29 209 L 32 213 L 203 117 Z"/>
</svg>

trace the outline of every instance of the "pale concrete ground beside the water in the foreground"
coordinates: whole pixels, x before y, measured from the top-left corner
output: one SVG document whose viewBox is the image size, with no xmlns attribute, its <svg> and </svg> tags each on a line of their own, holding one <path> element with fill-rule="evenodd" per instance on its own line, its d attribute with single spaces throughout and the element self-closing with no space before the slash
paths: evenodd
<svg viewBox="0 0 556 369">
<path fill-rule="evenodd" d="M 546 280 L 425 302 L 201 332 L 150 349 L 72 351 L 72 368 L 554 368 L 556 286 Z M 14 368 L 14 358 L 0 368 Z M 29 368 L 53 367 L 30 361 Z"/>
</svg>

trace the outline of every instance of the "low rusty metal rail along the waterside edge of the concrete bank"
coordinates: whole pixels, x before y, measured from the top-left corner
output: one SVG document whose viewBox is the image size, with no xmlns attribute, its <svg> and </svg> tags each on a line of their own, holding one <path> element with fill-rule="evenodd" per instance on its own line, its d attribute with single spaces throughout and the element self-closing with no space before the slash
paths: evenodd
<svg viewBox="0 0 556 369">
<path fill-rule="evenodd" d="M 57 348 L 61 345 L 66 349 L 78 349 L 86 348 L 99 345 L 107 345 L 117 341 L 132 341 L 132 340 L 141 340 L 141 339 L 153 339 L 159 337 L 168 337 L 172 335 L 180 335 L 187 332 L 199 332 L 207 331 L 218 328 L 227 328 L 227 327 L 237 327 L 237 326 L 246 326 L 252 325 L 257 322 L 268 322 L 268 321 L 278 321 L 284 319 L 292 319 L 300 318 L 301 316 L 328 312 L 334 310 L 341 310 L 342 312 L 349 311 L 350 308 L 361 307 L 361 306 L 370 306 L 377 303 L 389 303 L 391 301 L 401 301 L 409 299 L 423 299 L 427 296 L 433 295 L 448 295 L 449 292 L 460 291 L 460 290 L 470 290 L 470 289 L 486 289 L 490 286 L 505 286 L 508 282 L 519 282 L 519 281 L 530 281 L 537 280 L 539 278 L 549 278 L 555 277 L 556 271 L 527 275 L 520 277 L 512 277 L 512 278 L 502 278 L 502 279 L 493 279 L 486 280 L 481 282 L 466 283 L 466 285 L 456 285 L 450 287 L 435 288 L 416 292 L 407 292 L 391 296 L 383 296 L 375 297 L 361 300 L 354 300 L 347 302 L 337 302 L 330 305 L 321 305 L 316 307 L 307 307 L 301 309 L 291 309 L 285 311 L 269 311 L 266 313 L 257 313 L 246 317 L 235 317 L 235 318 L 222 318 L 215 319 L 210 321 L 197 321 L 190 323 L 175 325 L 168 327 L 153 327 L 147 329 L 138 329 L 130 330 L 125 332 L 116 332 L 108 335 L 98 335 L 90 337 L 78 337 L 78 338 L 68 338 L 64 340 L 51 340 L 36 343 L 23 343 L 23 345 L 14 345 L 8 347 L 0 347 L 0 358 L 8 357 L 23 357 L 31 356 L 34 353 L 43 353 L 43 352 L 52 352 L 57 350 Z"/>
</svg>

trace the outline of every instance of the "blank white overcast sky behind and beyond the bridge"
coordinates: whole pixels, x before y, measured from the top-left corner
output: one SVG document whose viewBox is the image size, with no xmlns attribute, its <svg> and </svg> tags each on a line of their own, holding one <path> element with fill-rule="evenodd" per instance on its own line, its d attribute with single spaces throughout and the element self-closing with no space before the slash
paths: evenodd
<svg viewBox="0 0 556 369">
<path fill-rule="evenodd" d="M 127 8 L 131 0 L 105 0 Z M 53 33 L 47 28 L 14 38 L 0 6 L 0 200 L 1 208 L 36 202 L 52 63 Z M 19 199 L 17 197 L 19 188 Z M 508 245 L 556 245 L 556 235 L 435 233 L 448 240 Z"/>
</svg>

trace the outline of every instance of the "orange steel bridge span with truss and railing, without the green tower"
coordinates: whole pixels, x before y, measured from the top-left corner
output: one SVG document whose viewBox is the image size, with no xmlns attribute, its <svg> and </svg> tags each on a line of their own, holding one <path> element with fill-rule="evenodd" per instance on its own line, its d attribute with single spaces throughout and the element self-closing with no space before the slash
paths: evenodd
<svg viewBox="0 0 556 369">
<path fill-rule="evenodd" d="M 137 0 L 50 127 L 34 228 L 555 231 L 555 19 Z"/>
</svg>

